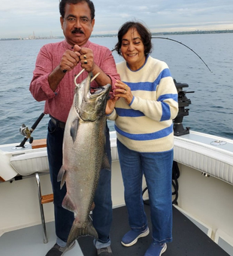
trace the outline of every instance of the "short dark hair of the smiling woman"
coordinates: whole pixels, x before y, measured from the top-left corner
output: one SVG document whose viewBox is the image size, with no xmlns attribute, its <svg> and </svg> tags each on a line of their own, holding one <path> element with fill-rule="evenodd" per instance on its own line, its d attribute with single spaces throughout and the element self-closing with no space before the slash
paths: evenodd
<svg viewBox="0 0 233 256">
<path fill-rule="evenodd" d="M 152 51 L 152 43 L 151 43 L 151 33 L 150 30 L 147 29 L 142 23 L 135 22 L 135 21 L 127 21 L 123 24 L 123 26 L 120 27 L 118 31 L 118 42 L 115 45 L 114 50 L 117 51 L 117 53 L 122 56 L 121 53 L 121 45 L 123 36 L 126 35 L 129 29 L 135 28 L 138 31 L 138 34 L 141 36 L 141 40 L 144 44 L 145 50 L 144 54 L 147 56 Z"/>
</svg>

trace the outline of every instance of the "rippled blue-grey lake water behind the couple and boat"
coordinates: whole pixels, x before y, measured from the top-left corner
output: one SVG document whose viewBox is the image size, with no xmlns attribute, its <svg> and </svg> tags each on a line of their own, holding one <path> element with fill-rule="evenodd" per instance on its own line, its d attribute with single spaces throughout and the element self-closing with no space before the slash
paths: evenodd
<svg viewBox="0 0 233 256">
<path fill-rule="evenodd" d="M 168 38 L 186 44 L 191 50 L 174 41 L 153 39 L 153 57 L 164 60 L 171 75 L 180 83 L 191 99 L 189 116 L 183 118 L 183 126 L 202 133 L 233 139 L 233 34 L 168 35 Z M 44 111 L 44 102 L 36 102 L 29 92 L 35 59 L 44 44 L 62 39 L 25 41 L 0 41 L 0 145 L 23 140 L 20 126 L 31 128 Z M 91 38 L 91 41 L 113 49 L 115 37 Z M 116 62 L 122 58 L 113 53 Z M 47 136 L 48 116 L 45 116 L 32 133 L 34 139 Z M 113 122 L 109 122 L 113 130 Z"/>
</svg>

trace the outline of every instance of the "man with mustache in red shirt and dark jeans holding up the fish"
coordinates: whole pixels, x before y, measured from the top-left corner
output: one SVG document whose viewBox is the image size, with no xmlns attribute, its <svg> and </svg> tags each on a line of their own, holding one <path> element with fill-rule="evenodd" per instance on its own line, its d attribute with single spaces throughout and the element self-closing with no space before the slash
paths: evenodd
<svg viewBox="0 0 233 256">
<path fill-rule="evenodd" d="M 57 175 L 62 166 L 62 141 L 65 121 L 74 97 L 74 77 L 83 81 L 92 72 L 100 72 L 93 86 L 115 84 L 119 75 L 113 56 L 107 47 L 89 41 L 95 25 L 95 8 L 89 0 L 61 0 L 59 3 L 60 22 L 65 40 L 41 47 L 36 60 L 35 71 L 29 90 L 38 101 L 45 100 L 44 112 L 50 114 L 47 133 L 47 154 L 50 165 L 50 178 L 54 195 L 54 215 L 56 244 L 46 256 L 61 256 L 71 249 L 65 247 L 68 234 L 74 221 L 73 212 L 62 208 L 66 194 L 65 186 L 60 190 Z M 107 155 L 110 157 L 110 139 L 106 125 Z M 95 248 L 98 255 L 113 255 L 110 249 L 110 224 L 112 202 L 110 196 L 110 172 L 102 169 L 95 193 L 95 209 L 92 211 L 93 225 L 98 233 Z M 75 242 L 74 242 L 75 243 Z"/>
</svg>

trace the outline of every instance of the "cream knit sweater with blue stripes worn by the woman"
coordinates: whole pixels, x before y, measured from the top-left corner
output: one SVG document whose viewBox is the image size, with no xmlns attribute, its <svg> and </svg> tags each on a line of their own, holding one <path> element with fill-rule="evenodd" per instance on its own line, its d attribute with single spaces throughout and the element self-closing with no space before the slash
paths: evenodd
<svg viewBox="0 0 233 256">
<path fill-rule="evenodd" d="M 147 56 L 133 72 L 126 61 L 116 64 L 121 81 L 133 94 L 130 105 L 120 98 L 107 116 L 115 120 L 117 139 L 138 152 L 170 151 L 174 145 L 172 120 L 177 116 L 177 88 L 165 62 Z M 138 82 L 139 81 L 139 82 Z"/>
</svg>

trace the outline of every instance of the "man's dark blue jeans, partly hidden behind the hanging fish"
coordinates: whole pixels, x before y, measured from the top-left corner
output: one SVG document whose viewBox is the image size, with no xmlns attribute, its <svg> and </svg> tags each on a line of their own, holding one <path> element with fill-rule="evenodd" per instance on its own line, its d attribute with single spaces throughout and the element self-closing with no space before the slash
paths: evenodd
<svg viewBox="0 0 233 256">
<path fill-rule="evenodd" d="M 106 125 L 106 152 L 111 163 L 109 130 Z M 48 123 L 47 155 L 50 166 L 50 179 L 53 187 L 53 204 L 57 243 L 65 246 L 68 234 L 74 221 L 74 213 L 62 207 L 62 200 L 66 194 L 65 184 L 60 189 L 57 181 L 59 169 L 62 166 L 62 142 L 64 130 L 56 126 L 51 120 Z M 101 169 L 98 187 L 95 192 L 95 209 L 92 211 L 92 219 L 95 230 L 98 233 L 96 248 L 110 245 L 110 225 L 112 223 L 112 201 L 110 187 L 111 172 Z M 103 245 L 102 245 L 103 244 Z"/>
</svg>

